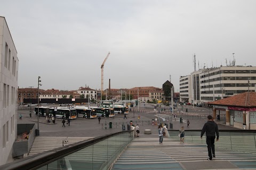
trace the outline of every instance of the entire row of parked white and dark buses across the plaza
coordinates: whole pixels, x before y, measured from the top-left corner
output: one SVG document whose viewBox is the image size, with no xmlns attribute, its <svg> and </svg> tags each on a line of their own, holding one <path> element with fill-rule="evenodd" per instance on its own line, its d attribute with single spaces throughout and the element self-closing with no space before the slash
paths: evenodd
<svg viewBox="0 0 256 170">
<path fill-rule="evenodd" d="M 36 115 L 38 114 L 38 107 L 35 107 Z M 75 106 L 75 107 L 39 107 L 39 116 L 49 116 L 56 118 L 65 119 L 75 119 L 77 117 L 83 118 L 95 118 L 100 117 L 114 117 L 115 113 L 124 114 L 129 113 L 128 107 L 123 109 L 122 107 L 107 108 L 107 107 L 85 107 L 85 106 Z"/>
</svg>

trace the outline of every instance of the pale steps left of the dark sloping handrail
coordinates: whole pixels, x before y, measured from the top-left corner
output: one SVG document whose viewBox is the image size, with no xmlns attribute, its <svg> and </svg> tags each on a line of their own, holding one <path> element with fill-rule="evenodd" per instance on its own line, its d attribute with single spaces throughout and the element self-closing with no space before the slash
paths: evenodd
<svg viewBox="0 0 256 170">
<path fill-rule="evenodd" d="M 41 152 L 70 145 L 83 140 L 88 140 L 88 137 L 36 137 L 29 151 L 28 156 L 39 154 Z"/>
</svg>

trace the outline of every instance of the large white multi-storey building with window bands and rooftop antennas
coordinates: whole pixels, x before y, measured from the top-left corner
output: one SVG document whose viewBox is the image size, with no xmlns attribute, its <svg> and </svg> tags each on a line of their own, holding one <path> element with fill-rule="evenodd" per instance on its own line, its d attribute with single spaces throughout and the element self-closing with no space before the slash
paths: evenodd
<svg viewBox="0 0 256 170">
<path fill-rule="evenodd" d="M 220 66 L 180 77 L 180 99 L 206 104 L 256 90 L 256 66 Z"/>
</svg>

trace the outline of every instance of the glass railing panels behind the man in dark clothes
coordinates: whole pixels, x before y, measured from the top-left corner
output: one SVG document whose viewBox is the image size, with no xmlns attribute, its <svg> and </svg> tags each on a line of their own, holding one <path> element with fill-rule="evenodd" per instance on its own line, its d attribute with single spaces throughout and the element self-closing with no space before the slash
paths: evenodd
<svg viewBox="0 0 256 170">
<path fill-rule="evenodd" d="M 180 141 L 178 130 L 169 130 L 170 138 Z M 185 131 L 185 143 L 195 143 L 206 145 L 206 137 L 200 138 L 200 130 Z M 219 141 L 215 142 L 215 147 L 238 150 L 256 154 L 256 131 L 250 130 L 219 130 Z"/>
</svg>

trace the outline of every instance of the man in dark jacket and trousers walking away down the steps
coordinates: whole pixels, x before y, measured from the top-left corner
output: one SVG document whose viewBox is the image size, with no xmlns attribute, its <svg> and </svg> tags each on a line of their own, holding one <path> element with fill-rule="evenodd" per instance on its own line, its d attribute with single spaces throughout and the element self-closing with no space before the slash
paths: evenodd
<svg viewBox="0 0 256 170">
<path fill-rule="evenodd" d="M 211 115 L 207 116 L 208 122 L 204 124 L 204 127 L 201 132 L 201 139 L 204 135 L 204 132 L 206 132 L 206 143 L 208 148 L 208 155 L 209 158 L 207 160 L 212 160 L 212 157 L 215 158 L 215 148 L 214 148 L 214 139 L 215 139 L 215 133 L 217 135 L 216 141 L 219 140 L 219 130 L 218 125 L 213 121 L 213 117 Z"/>
</svg>

